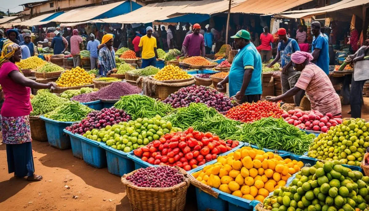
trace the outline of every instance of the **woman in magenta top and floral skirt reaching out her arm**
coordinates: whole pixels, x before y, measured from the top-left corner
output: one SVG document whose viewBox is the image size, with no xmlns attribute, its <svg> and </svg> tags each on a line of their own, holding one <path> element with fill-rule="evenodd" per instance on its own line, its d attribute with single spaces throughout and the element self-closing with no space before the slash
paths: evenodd
<svg viewBox="0 0 369 211">
<path fill-rule="evenodd" d="M 6 144 L 8 172 L 28 181 L 42 180 L 34 174 L 31 129 L 28 115 L 32 111 L 31 88 L 49 89 L 55 83 L 41 84 L 25 77 L 15 65 L 22 58 L 21 48 L 14 42 L 4 43 L 0 57 L 0 85 L 5 101 L 1 108 L 1 129 Z"/>
</svg>

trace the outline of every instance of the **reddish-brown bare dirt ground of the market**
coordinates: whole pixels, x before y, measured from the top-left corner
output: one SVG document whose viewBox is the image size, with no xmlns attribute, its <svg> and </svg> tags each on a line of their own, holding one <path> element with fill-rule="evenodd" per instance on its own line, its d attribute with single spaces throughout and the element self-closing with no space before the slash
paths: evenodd
<svg viewBox="0 0 369 211">
<path fill-rule="evenodd" d="M 364 98 L 362 118 L 369 119 L 369 98 Z M 349 105 L 342 106 L 344 117 Z M 107 168 L 96 169 L 73 157 L 72 151 L 52 148 L 47 142 L 32 142 L 36 174 L 42 181 L 28 182 L 8 174 L 5 145 L 0 145 L 1 211 L 130 211 L 130 204 L 120 177 Z M 186 211 L 196 210 L 190 200 Z"/>
</svg>

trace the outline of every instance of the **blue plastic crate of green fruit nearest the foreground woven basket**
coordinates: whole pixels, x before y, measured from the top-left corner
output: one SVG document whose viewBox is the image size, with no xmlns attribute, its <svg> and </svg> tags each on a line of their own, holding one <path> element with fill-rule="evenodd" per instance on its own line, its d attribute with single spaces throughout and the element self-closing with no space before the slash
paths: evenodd
<svg viewBox="0 0 369 211">
<path fill-rule="evenodd" d="M 106 151 L 108 171 L 111 174 L 121 177 L 134 170 L 134 162 L 128 158 L 129 153 L 107 146 L 104 142 L 100 142 L 100 147 Z"/>
</svg>

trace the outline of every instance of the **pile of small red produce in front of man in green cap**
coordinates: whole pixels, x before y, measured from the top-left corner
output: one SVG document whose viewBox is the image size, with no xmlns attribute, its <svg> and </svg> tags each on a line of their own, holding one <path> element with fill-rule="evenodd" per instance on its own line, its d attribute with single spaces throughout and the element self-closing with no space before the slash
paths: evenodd
<svg viewBox="0 0 369 211">
<path fill-rule="evenodd" d="M 241 122 L 253 122 L 265 117 L 280 118 L 284 113 L 279 103 L 261 100 L 256 103 L 243 103 L 231 108 L 226 117 Z"/>
</svg>

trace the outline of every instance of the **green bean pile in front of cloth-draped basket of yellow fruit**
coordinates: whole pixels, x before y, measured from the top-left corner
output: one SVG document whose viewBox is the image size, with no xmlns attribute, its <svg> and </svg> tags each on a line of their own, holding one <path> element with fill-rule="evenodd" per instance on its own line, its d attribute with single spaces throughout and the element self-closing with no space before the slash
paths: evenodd
<svg viewBox="0 0 369 211">
<path fill-rule="evenodd" d="M 114 104 L 114 107 L 123 109 L 133 120 L 144 117 L 152 118 L 156 115 L 163 117 L 173 111 L 169 104 L 141 94 L 123 96 Z"/>
</svg>

